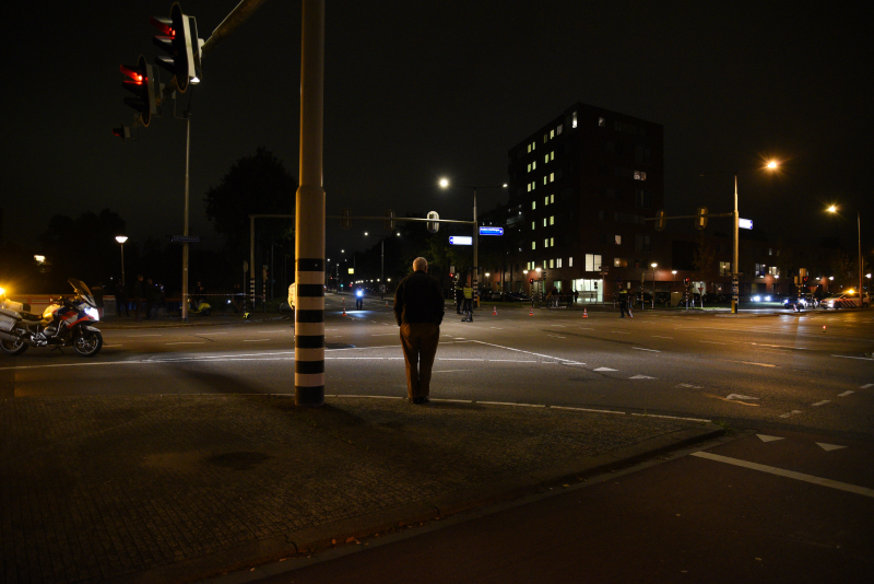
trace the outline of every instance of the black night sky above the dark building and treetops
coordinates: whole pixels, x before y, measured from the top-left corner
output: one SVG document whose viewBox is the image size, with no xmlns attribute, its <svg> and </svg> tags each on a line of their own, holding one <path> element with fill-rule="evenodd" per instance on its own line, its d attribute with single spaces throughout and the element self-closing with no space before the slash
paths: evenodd
<svg viewBox="0 0 874 584">
<path fill-rule="evenodd" d="M 133 117 L 118 67 L 158 54 L 149 17 L 169 15 L 170 4 L 5 9 L 7 240 L 28 247 L 51 214 L 103 208 L 127 221 L 130 243 L 181 233 L 184 121 L 167 107 L 139 141 L 110 131 Z M 181 2 L 203 38 L 236 4 Z M 855 213 L 823 212 L 839 202 L 861 208 L 870 250 L 869 31 L 861 14 L 822 2 L 328 0 L 328 213 L 469 219 L 470 191 L 440 190 L 438 177 L 505 183 L 508 149 L 583 102 L 664 126 L 669 214 L 730 211 L 732 177 L 698 174 L 751 170 L 740 210 L 757 233 L 841 236 L 854 252 Z M 203 65 L 203 83 L 182 97 L 193 95 L 191 233 L 217 248 L 201 199 L 235 161 L 264 147 L 298 176 L 300 3 L 267 1 Z M 770 156 L 783 162 L 778 176 L 754 170 Z M 481 191 L 480 211 L 504 201 L 500 190 Z M 369 245 L 365 230 L 382 232 L 334 223 L 329 255 Z"/>
</svg>

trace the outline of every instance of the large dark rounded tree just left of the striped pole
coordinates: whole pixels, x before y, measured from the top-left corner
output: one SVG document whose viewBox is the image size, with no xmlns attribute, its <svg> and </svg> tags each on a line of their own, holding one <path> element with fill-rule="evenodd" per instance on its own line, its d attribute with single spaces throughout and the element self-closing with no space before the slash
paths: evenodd
<svg viewBox="0 0 874 584">
<path fill-rule="evenodd" d="M 210 186 L 203 202 L 206 219 L 225 238 L 229 250 L 248 250 L 250 214 L 294 214 L 297 179 L 264 148 L 238 160 L 218 186 Z M 261 219 L 260 242 L 282 245 L 294 241 L 294 219 Z M 246 254 L 243 254 L 245 256 Z"/>
</svg>

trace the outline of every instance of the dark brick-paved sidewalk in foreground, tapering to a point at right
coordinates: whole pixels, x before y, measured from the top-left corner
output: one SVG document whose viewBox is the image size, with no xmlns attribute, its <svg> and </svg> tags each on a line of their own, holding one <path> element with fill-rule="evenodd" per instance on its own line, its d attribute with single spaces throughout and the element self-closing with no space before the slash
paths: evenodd
<svg viewBox="0 0 874 584">
<path fill-rule="evenodd" d="M 5 399 L 0 579 L 265 575 L 295 553 L 560 488 L 721 433 L 692 420 L 437 399 Z"/>
</svg>

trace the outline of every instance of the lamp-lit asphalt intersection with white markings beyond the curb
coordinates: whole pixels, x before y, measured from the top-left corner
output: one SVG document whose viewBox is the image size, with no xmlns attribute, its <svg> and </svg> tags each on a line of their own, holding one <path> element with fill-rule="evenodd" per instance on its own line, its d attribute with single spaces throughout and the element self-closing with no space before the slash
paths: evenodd
<svg viewBox="0 0 874 584">
<path fill-rule="evenodd" d="M 342 316 L 326 297 L 326 394 L 405 395 L 391 307 Z M 451 311 L 451 306 L 450 306 Z M 874 313 L 714 316 L 501 308 L 448 312 L 435 397 L 690 417 L 748 427 L 874 433 Z M 294 393 L 290 320 L 105 329 L 92 360 L 28 350 L 0 359 L 12 396 Z"/>
</svg>

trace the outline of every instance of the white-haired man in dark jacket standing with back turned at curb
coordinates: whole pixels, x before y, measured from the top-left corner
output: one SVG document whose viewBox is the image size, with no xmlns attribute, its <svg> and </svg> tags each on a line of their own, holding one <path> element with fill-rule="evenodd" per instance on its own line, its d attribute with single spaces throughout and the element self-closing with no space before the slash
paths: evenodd
<svg viewBox="0 0 874 584">
<path fill-rule="evenodd" d="M 413 273 L 398 284 L 394 319 L 401 327 L 408 397 L 412 404 L 427 404 L 430 370 L 444 319 L 444 292 L 437 280 L 428 276 L 428 261 L 424 257 L 413 260 Z"/>
</svg>

